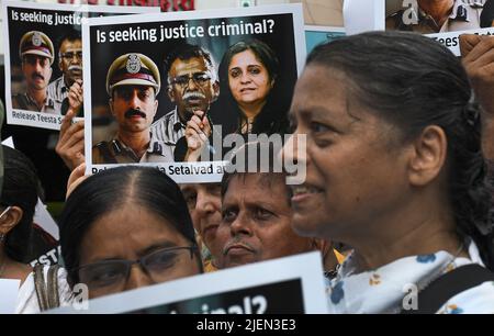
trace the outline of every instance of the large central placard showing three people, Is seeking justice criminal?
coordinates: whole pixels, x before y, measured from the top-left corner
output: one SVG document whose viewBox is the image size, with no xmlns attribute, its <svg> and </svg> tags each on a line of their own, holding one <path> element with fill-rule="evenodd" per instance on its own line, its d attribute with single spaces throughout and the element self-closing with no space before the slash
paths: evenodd
<svg viewBox="0 0 494 336">
<path fill-rule="evenodd" d="M 287 133 L 303 29 L 300 4 L 88 20 L 88 172 L 138 164 L 220 181 L 246 141 Z"/>
</svg>

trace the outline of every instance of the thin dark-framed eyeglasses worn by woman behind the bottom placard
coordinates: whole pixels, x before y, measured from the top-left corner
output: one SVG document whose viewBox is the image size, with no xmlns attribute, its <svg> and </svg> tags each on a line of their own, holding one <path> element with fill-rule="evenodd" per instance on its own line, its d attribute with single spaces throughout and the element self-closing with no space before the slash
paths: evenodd
<svg viewBox="0 0 494 336">
<path fill-rule="evenodd" d="M 137 259 L 114 259 L 98 261 L 81 266 L 71 271 L 77 275 L 79 282 L 86 283 L 89 289 L 115 289 L 125 285 L 132 267 L 137 264 L 155 282 L 168 280 L 180 266 L 180 261 L 189 254 L 193 259 L 194 253 L 198 253 L 198 246 L 180 246 L 161 248 Z"/>
</svg>

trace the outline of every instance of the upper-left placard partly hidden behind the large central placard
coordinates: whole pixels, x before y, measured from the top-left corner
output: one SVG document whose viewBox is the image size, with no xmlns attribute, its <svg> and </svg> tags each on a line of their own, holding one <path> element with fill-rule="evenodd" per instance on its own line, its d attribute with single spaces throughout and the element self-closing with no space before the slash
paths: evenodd
<svg viewBox="0 0 494 336">
<path fill-rule="evenodd" d="M 7 123 L 59 130 L 71 104 L 82 116 L 81 22 L 149 11 L 159 8 L 2 1 Z"/>
</svg>

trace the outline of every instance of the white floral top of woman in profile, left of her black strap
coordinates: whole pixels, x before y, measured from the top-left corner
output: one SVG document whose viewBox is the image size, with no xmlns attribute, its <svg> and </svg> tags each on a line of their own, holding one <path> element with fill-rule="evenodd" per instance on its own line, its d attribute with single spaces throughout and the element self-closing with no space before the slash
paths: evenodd
<svg viewBox="0 0 494 336">
<path fill-rule="evenodd" d="M 412 285 L 422 290 L 457 267 L 473 262 L 483 266 L 476 245 L 473 240 L 467 243 L 470 259 L 441 250 L 404 257 L 364 272 L 357 272 L 352 253 L 327 289 L 329 310 L 333 313 L 398 313 Z"/>
</svg>

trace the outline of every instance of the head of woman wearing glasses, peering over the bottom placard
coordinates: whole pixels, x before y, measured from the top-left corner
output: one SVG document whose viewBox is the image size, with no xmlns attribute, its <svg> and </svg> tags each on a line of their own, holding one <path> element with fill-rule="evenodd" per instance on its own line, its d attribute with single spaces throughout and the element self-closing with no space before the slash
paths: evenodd
<svg viewBox="0 0 494 336">
<path fill-rule="evenodd" d="M 89 298 L 202 273 L 187 203 L 154 168 L 120 167 L 82 181 L 59 221 L 70 287 Z"/>
</svg>

